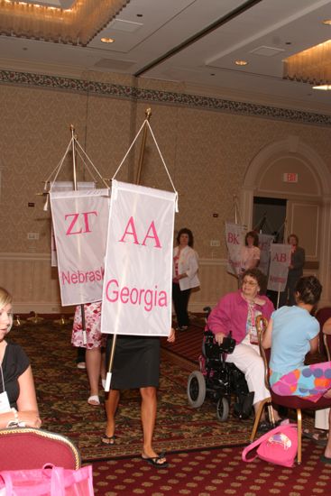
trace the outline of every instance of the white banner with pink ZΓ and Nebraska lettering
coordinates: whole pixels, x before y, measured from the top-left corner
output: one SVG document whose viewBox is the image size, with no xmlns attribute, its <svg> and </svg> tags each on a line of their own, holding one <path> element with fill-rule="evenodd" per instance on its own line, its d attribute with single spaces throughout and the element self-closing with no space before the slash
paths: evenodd
<svg viewBox="0 0 331 496">
<path fill-rule="evenodd" d="M 109 189 L 51 191 L 63 306 L 102 299 Z"/>
</svg>

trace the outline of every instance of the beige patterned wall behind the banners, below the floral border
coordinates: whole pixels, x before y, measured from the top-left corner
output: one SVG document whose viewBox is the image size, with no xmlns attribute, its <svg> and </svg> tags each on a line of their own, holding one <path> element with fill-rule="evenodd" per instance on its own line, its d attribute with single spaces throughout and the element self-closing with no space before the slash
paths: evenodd
<svg viewBox="0 0 331 496">
<path fill-rule="evenodd" d="M 185 225 L 193 230 L 201 259 L 202 286 L 191 299 L 190 308 L 194 310 L 214 305 L 218 296 L 235 287 L 234 279 L 225 272 L 224 222 L 234 220 L 234 195 L 241 198 L 242 215 L 249 222 L 249 200 L 243 199 L 245 178 L 263 150 L 296 137 L 297 149 L 290 155 L 280 152 L 273 161 L 264 163 L 265 173 L 262 168 L 256 176 L 256 191 L 264 190 L 271 196 L 267 190 L 272 192 L 275 177 L 292 160 L 293 166 L 299 164 L 302 171 L 298 188 L 305 189 L 292 188 L 289 195 L 308 195 L 321 203 L 327 199 L 317 172 L 314 182 L 310 181 L 309 160 L 298 149 L 298 142 L 305 143 L 329 174 L 331 125 L 327 116 L 325 121 L 317 118 L 315 123 L 314 115 L 293 116 L 286 109 L 274 114 L 265 106 L 243 110 L 237 102 L 229 102 L 225 109 L 219 97 L 209 98 L 207 106 L 200 96 L 194 103 L 191 96 L 186 100 L 188 94 L 180 85 L 147 79 L 137 82 L 118 75 L 84 75 L 86 81 L 92 81 L 90 91 L 79 86 L 78 80 L 68 89 L 60 78 L 45 76 L 39 86 L 28 87 L 23 76 L 17 74 L 15 83 L 2 78 L 0 85 L 0 273 L 1 284 L 14 290 L 20 311 L 60 308 L 56 276 L 48 265 L 50 214 L 42 210 L 44 198 L 36 193 L 66 150 L 69 124 L 75 125 L 78 141 L 97 170 L 111 178 L 143 123 L 146 108 L 152 108 L 152 130 L 179 191 L 176 228 Z M 96 81 L 100 81 L 99 89 Z M 116 90 L 129 88 L 131 93 L 126 96 L 122 91 L 117 96 L 112 90 L 108 94 L 112 85 Z M 139 152 L 138 143 L 116 179 L 134 180 Z M 318 169 L 318 163 L 315 167 Z M 78 179 L 90 179 L 83 166 L 78 170 Z M 71 174 L 69 157 L 59 179 L 69 179 Z M 146 143 L 143 184 L 171 189 L 151 136 Z M 253 191 L 252 185 L 248 188 Z M 286 197 L 288 192 L 281 191 Z M 35 207 L 28 207 L 29 202 Z M 40 240 L 28 241 L 30 232 L 39 233 Z M 220 246 L 211 247 L 211 240 L 220 240 Z M 324 263 L 328 266 L 327 257 Z"/>
</svg>

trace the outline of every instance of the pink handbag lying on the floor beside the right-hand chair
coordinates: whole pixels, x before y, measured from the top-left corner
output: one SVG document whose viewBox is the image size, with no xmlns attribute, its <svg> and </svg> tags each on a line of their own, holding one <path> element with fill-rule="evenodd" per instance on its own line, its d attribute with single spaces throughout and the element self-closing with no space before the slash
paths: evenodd
<svg viewBox="0 0 331 496">
<path fill-rule="evenodd" d="M 256 447 L 256 454 L 253 455 L 253 458 L 248 459 L 247 455 Z M 297 452 L 297 424 L 285 424 L 271 429 L 256 441 L 253 441 L 251 445 L 246 446 L 242 453 L 242 458 L 244 462 L 253 462 L 258 456 L 270 464 L 292 467 Z"/>
</svg>

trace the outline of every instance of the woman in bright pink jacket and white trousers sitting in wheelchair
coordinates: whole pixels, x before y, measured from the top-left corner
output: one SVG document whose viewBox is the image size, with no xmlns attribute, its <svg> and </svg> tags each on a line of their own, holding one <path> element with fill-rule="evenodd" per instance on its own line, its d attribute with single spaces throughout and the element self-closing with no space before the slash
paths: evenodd
<svg viewBox="0 0 331 496">
<path fill-rule="evenodd" d="M 244 271 L 242 287 L 221 298 L 207 320 L 208 328 L 214 333 L 216 342 L 222 344 L 230 331 L 236 341 L 233 354 L 226 357 L 227 363 L 234 363 L 244 372 L 248 390 L 253 391 L 253 408 L 258 411 L 260 403 L 270 396 L 264 385 L 264 365 L 258 345 L 255 320 L 258 315 L 269 319 L 273 304 L 260 292 L 265 288 L 266 278 L 262 271 Z M 275 420 L 280 420 L 277 411 Z M 262 417 L 260 430 L 267 430 L 269 423 Z"/>
</svg>

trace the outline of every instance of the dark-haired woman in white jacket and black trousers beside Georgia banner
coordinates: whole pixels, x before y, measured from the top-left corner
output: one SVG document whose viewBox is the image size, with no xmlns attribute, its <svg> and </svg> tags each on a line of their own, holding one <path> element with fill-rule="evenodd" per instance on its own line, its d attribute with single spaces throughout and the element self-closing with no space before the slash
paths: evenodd
<svg viewBox="0 0 331 496">
<path fill-rule="evenodd" d="M 177 246 L 173 252 L 172 301 L 177 317 L 177 329 L 188 329 L 188 299 L 198 280 L 198 253 L 193 250 L 193 234 L 184 227 L 177 235 Z"/>
</svg>

